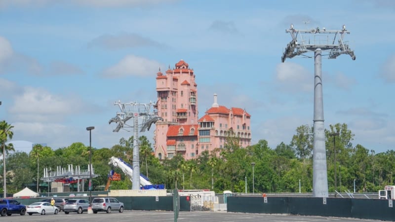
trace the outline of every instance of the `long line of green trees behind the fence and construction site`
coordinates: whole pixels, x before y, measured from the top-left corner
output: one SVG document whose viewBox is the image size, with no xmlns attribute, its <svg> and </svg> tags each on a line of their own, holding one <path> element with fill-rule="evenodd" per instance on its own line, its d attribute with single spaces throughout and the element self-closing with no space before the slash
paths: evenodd
<svg viewBox="0 0 395 222">
<path fill-rule="evenodd" d="M 181 155 L 159 160 L 154 156 L 147 137 L 141 136 L 138 140 L 140 173 L 153 184 L 164 184 L 167 189 L 271 193 L 299 192 L 300 188 L 301 192 L 312 192 L 312 134 L 313 129 L 309 125 L 299 126 L 289 144 L 281 142 L 276 148 L 270 148 L 266 140 L 241 148 L 239 138 L 228 136 L 224 148 L 216 148 L 211 153 L 203 151 L 191 160 L 185 160 Z M 5 121 L 0 122 L 0 146 L 5 153 L 1 176 L 4 179 L 5 172 L 7 193 L 17 192 L 26 186 L 46 192 L 46 186 L 40 181 L 44 168 L 56 169 L 57 166 L 73 164 L 79 165 L 81 170 L 87 169 L 90 149 L 82 143 L 57 149 L 35 145 L 29 153 L 15 152 L 12 144 L 5 145 L 12 135 L 12 126 Z M 353 146 L 355 135 L 344 123 L 329 125 L 325 135 L 329 192 L 353 190 L 354 183 L 356 192 L 376 192 L 385 185 L 394 185 L 394 150 L 375 153 L 359 144 Z M 112 170 L 108 165 L 112 156 L 132 163 L 133 136 L 121 138 L 111 148 L 92 148 L 93 168 L 95 174 L 100 175 L 93 179 L 92 190 L 104 190 Z M 110 189 L 130 189 L 130 180 L 120 169 L 114 170 L 121 174 L 121 181 L 113 181 Z M 88 190 L 87 184 L 85 190 Z"/>
</svg>

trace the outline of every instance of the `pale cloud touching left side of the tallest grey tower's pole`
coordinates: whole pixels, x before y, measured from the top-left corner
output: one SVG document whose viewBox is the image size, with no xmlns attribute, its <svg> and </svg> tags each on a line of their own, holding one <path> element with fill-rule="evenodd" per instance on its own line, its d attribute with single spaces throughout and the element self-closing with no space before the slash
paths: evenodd
<svg viewBox="0 0 395 222">
<path fill-rule="evenodd" d="M 313 91 L 312 74 L 296 63 L 279 63 L 276 67 L 276 80 L 282 91 Z"/>
</svg>

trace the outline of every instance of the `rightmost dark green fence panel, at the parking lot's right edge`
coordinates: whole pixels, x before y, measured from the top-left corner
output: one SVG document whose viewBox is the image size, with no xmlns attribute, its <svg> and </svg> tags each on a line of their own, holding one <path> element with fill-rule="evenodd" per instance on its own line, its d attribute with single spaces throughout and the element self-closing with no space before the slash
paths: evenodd
<svg viewBox="0 0 395 222">
<path fill-rule="evenodd" d="M 351 217 L 395 221 L 395 206 L 390 207 L 389 201 L 392 200 L 352 199 Z"/>
</svg>

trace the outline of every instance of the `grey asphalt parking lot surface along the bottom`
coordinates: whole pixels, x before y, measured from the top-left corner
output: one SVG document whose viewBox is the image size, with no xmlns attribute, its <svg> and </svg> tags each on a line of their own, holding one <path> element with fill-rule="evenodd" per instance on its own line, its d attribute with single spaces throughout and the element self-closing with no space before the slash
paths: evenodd
<svg viewBox="0 0 395 222">
<path fill-rule="evenodd" d="M 1 217 L 1 222 L 174 222 L 174 213 L 169 211 L 124 211 L 123 213 L 83 214 L 63 212 L 58 215 L 12 215 Z M 269 214 L 245 214 L 227 212 L 180 212 L 179 222 L 362 222 L 373 220 L 315 217 L 315 216 L 290 216 Z"/>
</svg>

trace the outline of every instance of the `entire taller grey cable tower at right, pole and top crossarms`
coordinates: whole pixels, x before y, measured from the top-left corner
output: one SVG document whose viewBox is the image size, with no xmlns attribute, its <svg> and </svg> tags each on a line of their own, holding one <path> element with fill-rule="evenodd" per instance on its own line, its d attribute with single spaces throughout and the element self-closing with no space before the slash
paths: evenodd
<svg viewBox="0 0 395 222">
<path fill-rule="evenodd" d="M 322 51 L 328 50 L 329 59 L 335 59 L 341 54 L 348 54 L 352 60 L 355 60 L 354 51 L 349 48 L 347 42 L 343 41 L 344 35 L 350 34 L 350 32 L 347 31 L 345 25 L 341 30 L 326 30 L 319 27 L 311 30 L 296 30 L 291 24 L 290 28 L 285 30 L 285 33 L 289 33 L 292 40 L 287 44 L 281 56 L 281 62 L 285 62 L 286 58 L 299 55 L 311 58 L 304 54 L 314 52 L 313 197 L 328 197 L 321 57 Z M 304 38 L 302 34 L 314 35 L 314 38 Z M 329 40 L 330 35 L 334 36 L 331 41 Z"/>
</svg>

